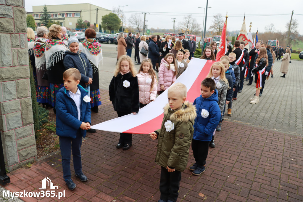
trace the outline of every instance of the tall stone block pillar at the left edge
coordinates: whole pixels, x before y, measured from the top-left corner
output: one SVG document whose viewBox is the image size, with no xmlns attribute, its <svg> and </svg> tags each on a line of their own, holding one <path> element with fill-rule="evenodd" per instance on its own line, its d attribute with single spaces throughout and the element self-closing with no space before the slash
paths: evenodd
<svg viewBox="0 0 303 202">
<path fill-rule="evenodd" d="M 0 132 L 9 170 L 37 160 L 24 7 L 0 0 Z"/>
</svg>

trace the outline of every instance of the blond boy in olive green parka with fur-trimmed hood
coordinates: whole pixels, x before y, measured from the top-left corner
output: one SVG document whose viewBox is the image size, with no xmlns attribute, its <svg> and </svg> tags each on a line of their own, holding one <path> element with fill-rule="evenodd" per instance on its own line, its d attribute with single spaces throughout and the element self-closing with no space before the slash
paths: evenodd
<svg viewBox="0 0 303 202">
<path fill-rule="evenodd" d="M 149 133 L 153 140 L 158 139 L 155 159 L 161 166 L 158 202 L 177 201 L 181 172 L 187 166 L 197 113 L 192 103 L 185 102 L 186 95 L 187 89 L 182 83 L 168 89 L 168 104 L 164 107 L 161 129 Z"/>
</svg>

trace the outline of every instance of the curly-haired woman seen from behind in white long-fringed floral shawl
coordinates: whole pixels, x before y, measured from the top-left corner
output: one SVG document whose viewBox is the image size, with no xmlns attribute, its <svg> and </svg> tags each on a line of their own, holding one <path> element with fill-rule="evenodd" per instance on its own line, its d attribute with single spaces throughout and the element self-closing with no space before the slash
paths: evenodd
<svg viewBox="0 0 303 202">
<path fill-rule="evenodd" d="M 62 29 L 60 25 L 53 24 L 49 28 L 48 39 L 45 47 L 46 58 L 46 72 L 48 83 L 51 91 L 51 99 L 49 104 L 54 107 L 56 113 L 56 94 L 63 85 L 63 72 L 65 71 L 63 65 L 63 54 L 68 48 L 61 41 Z"/>
</svg>

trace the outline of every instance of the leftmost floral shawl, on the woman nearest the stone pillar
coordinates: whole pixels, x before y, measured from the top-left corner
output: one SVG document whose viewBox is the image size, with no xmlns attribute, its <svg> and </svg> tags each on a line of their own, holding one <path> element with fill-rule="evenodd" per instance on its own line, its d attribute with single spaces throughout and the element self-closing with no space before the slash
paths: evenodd
<svg viewBox="0 0 303 202">
<path fill-rule="evenodd" d="M 43 65 L 45 64 L 45 46 L 47 39 L 37 37 L 34 43 L 34 54 L 35 54 L 35 62 L 36 69 L 40 71 Z"/>
</svg>

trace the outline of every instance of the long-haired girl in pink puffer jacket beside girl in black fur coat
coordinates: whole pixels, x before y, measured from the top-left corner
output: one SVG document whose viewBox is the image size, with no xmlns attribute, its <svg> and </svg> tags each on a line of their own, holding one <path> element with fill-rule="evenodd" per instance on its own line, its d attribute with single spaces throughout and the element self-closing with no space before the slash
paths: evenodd
<svg viewBox="0 0 303 202">
<path fill-rule="evenodd" d="M 140 108 L 142 108 L 151 101 L 155 101 L 157 94 L 157 76 L 150 59 L 144 59 L 141 62 L 137 77 L 139 83 Z"/>
</svg>

